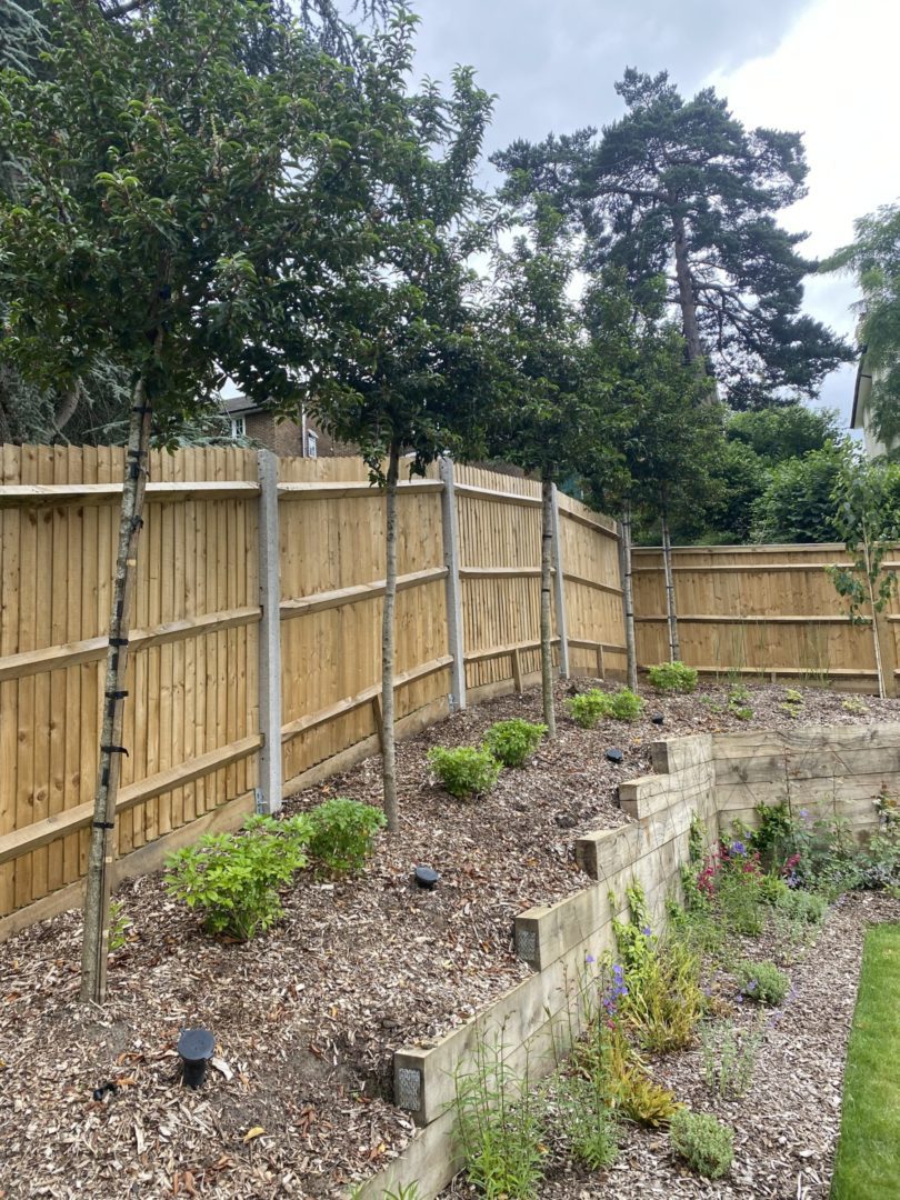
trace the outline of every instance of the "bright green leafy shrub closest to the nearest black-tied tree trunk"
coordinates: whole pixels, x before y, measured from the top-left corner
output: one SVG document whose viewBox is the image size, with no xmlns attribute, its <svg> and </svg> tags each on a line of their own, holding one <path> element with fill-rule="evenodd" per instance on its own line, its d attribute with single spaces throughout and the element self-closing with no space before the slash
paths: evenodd
<svg viewBox="0 0 900 1200">
<path fill-rule="evenodd" d="M 306 865 L 306 816 L 250 817 L 244 832 L 205 834 L 166 862 L 166 887 L 203 912 L 210 934 L 247 941 L 282 914 L 278 888 Z"/>
</svg>

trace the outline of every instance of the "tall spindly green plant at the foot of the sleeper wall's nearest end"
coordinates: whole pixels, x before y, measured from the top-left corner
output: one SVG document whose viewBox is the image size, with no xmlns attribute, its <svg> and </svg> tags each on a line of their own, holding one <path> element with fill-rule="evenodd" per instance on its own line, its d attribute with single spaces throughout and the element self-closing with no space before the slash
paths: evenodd
<svg viewBox="0 0 900 1200">
<path fill-rule="evenodd" d="M 527 1074 L 510 1069 L 503 1043 L 481 1039 L 473 1069 L 454 1082 L 456 1138 L 469 1180 L 488 1200 L 530 1200 L 544 1174 L 545 1112 Z"/>
</svg>

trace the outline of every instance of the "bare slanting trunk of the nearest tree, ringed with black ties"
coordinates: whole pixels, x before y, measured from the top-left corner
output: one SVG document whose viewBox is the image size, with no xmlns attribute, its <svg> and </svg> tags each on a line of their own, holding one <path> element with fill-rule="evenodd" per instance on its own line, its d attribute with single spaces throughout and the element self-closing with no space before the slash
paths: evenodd
<svg viewBox="0 0 900 1200">
<path fill-rule="evenodd" d="M 156 335 L 156 349 L 161 335 Z M 84 894 L 84 935 L 82 942 L 82 1000 L 102 1004 L 107 990 L 107 954 L 109 947 L 109 889 L 113 863 L 115 799 L 121 767 L 122 713 L 125 678 L 128 665 L 128 628 L 131 598 L 137 575 L 137 553 L 143 524 L 146 456 L 150 445 L 151 402 L 142 373 L 132 396 L 128 446 L 125 454 L 122 505 L 119 517 L 119 552 L 113 583 L 113 608 L 109 617 L 109 648 L 103 698 L 103 725 L 94 797 L 88 878 Z"/>
</svg>

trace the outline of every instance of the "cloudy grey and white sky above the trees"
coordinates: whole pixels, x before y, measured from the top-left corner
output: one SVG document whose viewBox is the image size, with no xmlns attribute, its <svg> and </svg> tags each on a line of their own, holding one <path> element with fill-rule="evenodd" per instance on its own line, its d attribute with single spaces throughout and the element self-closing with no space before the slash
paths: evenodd
<svg viewBox="0 0 900 1200">
<path fill-rule="evenodd" d="M 515 138 L 601 126 L 623 112 L 626 66 L 667 70 L 683 94 L 713 83 L 750 126 L 800 130 L 809 194 L 785 215 L 823 256 L 853 218 L 900 196 L 900 4 L 896 0 L 414 0 L 418 68 L 457 62 L 497 92 L 488 152 Z M 806 307 L 852 334 L 852 281 L 808 281 Z M 823 402 L 850 414 L 853 368 Z"/>
</svg>

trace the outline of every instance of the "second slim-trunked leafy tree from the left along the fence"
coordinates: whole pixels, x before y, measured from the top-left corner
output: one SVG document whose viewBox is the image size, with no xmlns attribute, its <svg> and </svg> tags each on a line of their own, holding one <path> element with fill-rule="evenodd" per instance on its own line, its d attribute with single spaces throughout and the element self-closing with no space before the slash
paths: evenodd
<svg viewBox="0 0 900 1200">
<path fill-rule="evenodd" d="M 482 358 L 475 276 L 467 259 L 487 236 L 475 173 L 492 107 L 464 67 L 454 71 L 449 96 L 431 82 L 403 95 L 415 24 L 400 13 L 376 38 L 394 79 L 395 92 L 380 114 L 395 127 L 394 152 L 385 152 L 383 173 L 370 180 L 371 257 L 343 274 L 319 330 L 317 367 L 299 392 L 326 430 L 360 448 L 372 481 L 384 491 L 382 756 L 390 830 L 398 827 L 397 485 L 401 469 L 424 474 L 439 456 L 476 452 L 468 448 L 479 444 Z M 295 407 L 281 412 L 295 413 Z"/>
</svg>

